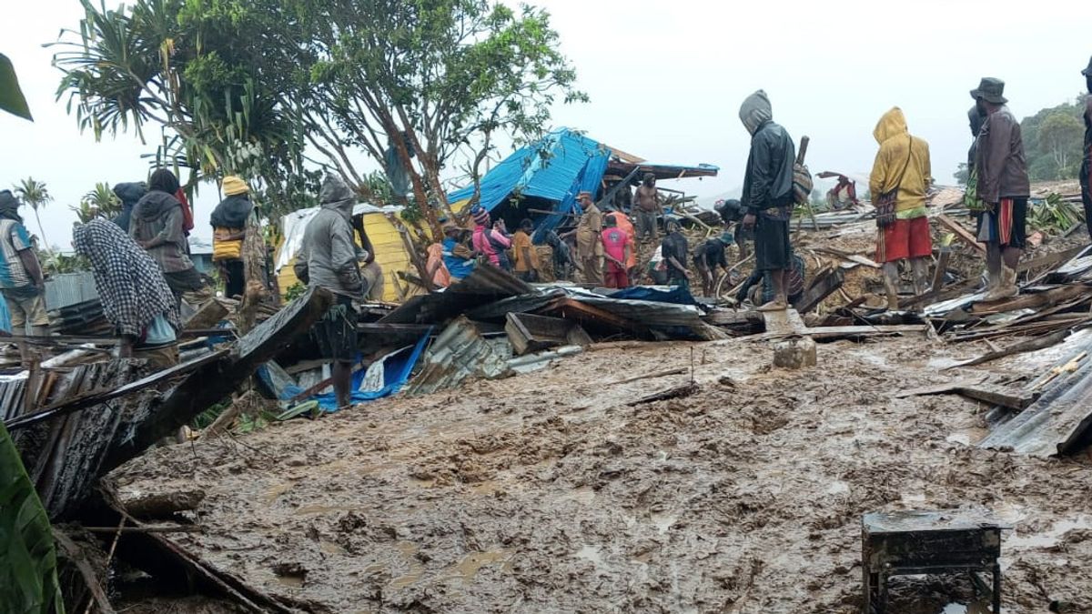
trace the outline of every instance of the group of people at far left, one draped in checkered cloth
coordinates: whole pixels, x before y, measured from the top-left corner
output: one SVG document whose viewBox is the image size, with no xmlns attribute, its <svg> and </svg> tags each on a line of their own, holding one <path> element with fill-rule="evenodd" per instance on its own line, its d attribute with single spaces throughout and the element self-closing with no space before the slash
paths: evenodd
<svg viewBox="0 0 1092 614">
<path fill-rule="evenodd" d="M 242 294 L 241 245 L 253 205 L 242 179 L 227 176 L 222 188 L 226 198 L 211 223 L 214 259 L 230 296 Z M 120 214 L 76 224 L 72 246 L 91 263 L 103 314 L 120 338 L 119 355 L 143 357 L 158 367 L 176 364 L 180 305 L 183 298 L 198 304 L 210 296 L 189 257 L 192 210 L 177 176 L 166 168 L 152 173 L 146 184 L 118 184 L 114 192 Z M 21 204 L 10 191 L 0 191 L 0 292 L 12 333 L 45 336 L 45 274 L 19 214 Z M 28 366 L 35 353 L 25 343 L 22 349 Z"/>
</svg>

